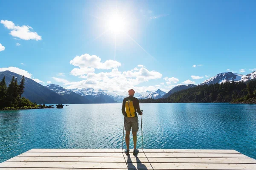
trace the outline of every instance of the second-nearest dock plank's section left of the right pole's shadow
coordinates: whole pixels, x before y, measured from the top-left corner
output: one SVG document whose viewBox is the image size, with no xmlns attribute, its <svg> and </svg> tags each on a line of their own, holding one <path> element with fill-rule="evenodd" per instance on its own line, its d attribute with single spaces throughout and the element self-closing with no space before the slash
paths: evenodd
<svg viewBox="0 0 256 170">
<path fill-rule="evenodd" d="M 16 156 L 7 161 L 52 161 L 52 162 L 143 162 L 149 163 L 145 157 L 135 158 L 131 156 L 124 157 L 32 157 L 32 156 Z"/>
</svg>

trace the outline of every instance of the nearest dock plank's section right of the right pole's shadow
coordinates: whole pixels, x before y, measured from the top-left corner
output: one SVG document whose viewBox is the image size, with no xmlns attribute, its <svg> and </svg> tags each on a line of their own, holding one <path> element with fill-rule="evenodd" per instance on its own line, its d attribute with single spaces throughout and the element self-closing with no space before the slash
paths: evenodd
<svg viewBox="0 0 256 170">
<path fill-rule="evenodd" d="M 189 170 L 256 170 L 256 164 L 197 164 L 197 163 L 151 163 L 154 169 L 189 169 Z"/>
</svg>

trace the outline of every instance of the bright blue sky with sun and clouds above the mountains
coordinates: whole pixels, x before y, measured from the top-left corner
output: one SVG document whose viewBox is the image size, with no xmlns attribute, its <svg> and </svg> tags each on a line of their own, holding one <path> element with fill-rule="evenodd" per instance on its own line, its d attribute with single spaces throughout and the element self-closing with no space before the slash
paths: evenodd
<svg viewBox="0 0 256 170">
<path fill-rule="evenodd" d="M 256 68 L 254 0 L 75 2 L 1 2 L 0 71 L 142 92 Z"/>
</svg>

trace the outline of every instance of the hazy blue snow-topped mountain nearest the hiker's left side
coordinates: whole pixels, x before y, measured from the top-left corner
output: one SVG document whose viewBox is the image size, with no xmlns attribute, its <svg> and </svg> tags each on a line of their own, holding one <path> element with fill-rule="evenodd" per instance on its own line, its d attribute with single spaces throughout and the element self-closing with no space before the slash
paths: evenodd
<svg viewBox="0 0 256 170">
<path fill-rule="evenodd" d="M 83 96 L 85 99 L 88 99 L 93 103 L 116 103 L 116 100 L 113 96 L 106 94 L 102 90 L 94 90 L 93 88 L 76 88 L 70 90 Z"/>
</svg>

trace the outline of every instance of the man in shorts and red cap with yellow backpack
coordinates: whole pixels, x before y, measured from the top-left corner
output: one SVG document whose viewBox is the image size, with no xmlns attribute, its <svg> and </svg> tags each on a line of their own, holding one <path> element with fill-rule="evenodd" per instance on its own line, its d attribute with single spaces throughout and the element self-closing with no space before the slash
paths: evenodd
<svg viewBox="0 0 256 170">
<path fill-rule="evenodd" d="M 126 155 L 129 154 L 129 144 L 130 144 L 130 132 L 132 129 L 133 141 L 134 141 L 134 151 L 133 154 L 137 155 L 139 150 L 136 148 L 137 144 L 137 131 L 139 131 L 139 119 L 137 113 L 142 115 L 140 111 L 139 100 L 134 97 L 135 91 L 133 89 L 128 91 L 129 96 L 125 97 L 122 103 L 122 114 L 125 116 L 124 126 L 125 126 L 125 142 L 127 149 L 125 149 Z"/>
</svg>

